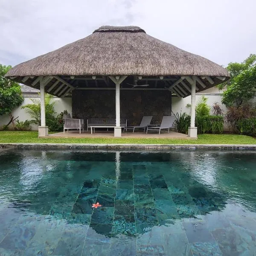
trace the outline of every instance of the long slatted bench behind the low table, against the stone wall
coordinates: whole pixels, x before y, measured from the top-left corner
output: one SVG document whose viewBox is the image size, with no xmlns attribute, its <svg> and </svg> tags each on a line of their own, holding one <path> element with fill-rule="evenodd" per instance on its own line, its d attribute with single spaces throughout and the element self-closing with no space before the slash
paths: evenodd
<svg viewBox="0 0 256 256">
<path fill-rule="evenodd" d="M 120 127 L 127 126 L 127 119 L 121 118 L 120 119 Z M 114 128 L 116 127 L 116 119 L 115 118 L 89 118 L 87 119 L 87 131 L 89 128 Z"/>
</svg>

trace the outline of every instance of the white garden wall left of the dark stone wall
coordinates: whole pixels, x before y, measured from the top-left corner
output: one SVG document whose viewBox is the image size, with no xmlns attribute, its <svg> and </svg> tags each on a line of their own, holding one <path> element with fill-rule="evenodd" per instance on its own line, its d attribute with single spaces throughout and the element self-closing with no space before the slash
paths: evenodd
<svg viewBox="0 0 256 256">
<path fill-rule="evenodd" d="M 31 99 L 38 99 L 40 101 L 40 97 L 38 94 L 36 95 L 29 95 L 29 96 L 24 96 L 24 101 L 20 107 L 15 108 L 15 110 L 12 111 L 12 114 L 14 118 L 19 116 L 17 119 L 19 121 L 25 121 L 25 120 L 30 120 L 31 117 L 28 113 L 26 113 L 26 109 L 21 109 L 22 106 L 26 104 L 31 104 L 32 101 Z M 71 98 L 53 98 L 53 100 L 56 101 L 55 103 L 55 112 L 56 113 L 61 113 L 64 110 L 67 110 L 68 113 L 72 114 L 72 99 Z M 16 119 L 16 120 L 17 120 Z M 8 115 L 0 116 L 0 127 L 3 125 L 6 125 L 10 121 L 10 117 Z M 37 125 L 31 125 L 32 130 L 38 131 L 38 126 Z M 9 125 L 9 129 L 11 130 L 13 128 L 12 124 Z"/>
</svg>

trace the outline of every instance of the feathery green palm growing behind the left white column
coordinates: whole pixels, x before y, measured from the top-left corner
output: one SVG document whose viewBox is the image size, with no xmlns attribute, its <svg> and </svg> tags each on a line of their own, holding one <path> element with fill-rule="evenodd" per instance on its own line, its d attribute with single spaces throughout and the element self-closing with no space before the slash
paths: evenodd
<svg viewBox="0 0 256 256">
<path fill-rule="evenodd" d="M 60 116 L 56 114 L 54 105 L 56 101 L 52 100 L 53 96 L 45 95 L 45 121 L 49 127 L 49 131 L 61 131 L 63 124 L 59 122 Z M 39 99 L 31 99 L 31 104 L 26 104 L 21 108 L 25 108 L 26 112 L 32 117 L 31 123 L 41 125 L 41 104 Z"/>
</svg>

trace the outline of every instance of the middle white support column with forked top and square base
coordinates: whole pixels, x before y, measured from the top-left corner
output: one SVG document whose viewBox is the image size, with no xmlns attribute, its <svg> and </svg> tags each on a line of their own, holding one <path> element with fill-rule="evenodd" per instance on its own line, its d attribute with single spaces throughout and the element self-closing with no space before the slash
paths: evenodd
<svg viewBox="0 0 256 256">
<path fill-rule="evenodd" d="M 122 136 L 122 128 L 120 127 L 120 84 L 127 76 L 110 76 L 109 78 L 116 84 L 116 127 L 114 128 L 114 137 Z"/>
</svg>

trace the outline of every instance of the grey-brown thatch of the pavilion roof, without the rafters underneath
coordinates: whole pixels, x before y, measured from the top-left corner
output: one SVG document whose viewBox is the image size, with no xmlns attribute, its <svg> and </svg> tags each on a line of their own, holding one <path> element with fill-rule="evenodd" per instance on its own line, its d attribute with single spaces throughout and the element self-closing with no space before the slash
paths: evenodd
<svg viewBox="0 0 256 256">
<path fill-rule="evenodd" d="M 151 37 L 137 26 L 102 26 L 86 38 L 18 64 L 6 74 L 29 86 L 35 79 L 22 81 L 23 77 L 117 75 L 229 78 L 220 65 Z M 207 87 L 224 80 L 213 79 Z"/>
</svg>

